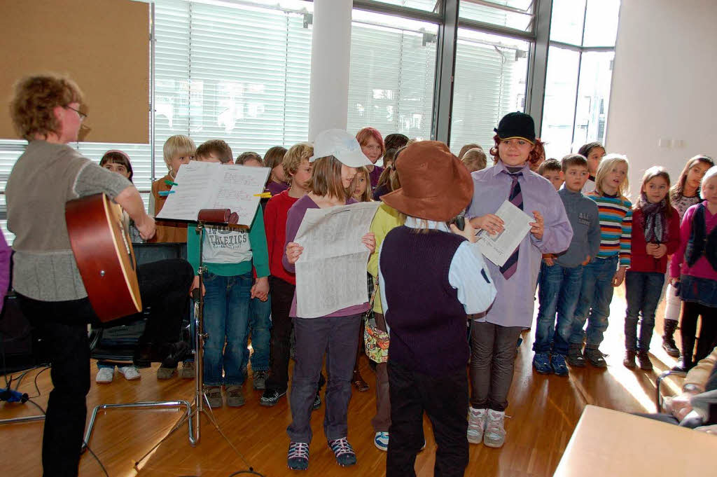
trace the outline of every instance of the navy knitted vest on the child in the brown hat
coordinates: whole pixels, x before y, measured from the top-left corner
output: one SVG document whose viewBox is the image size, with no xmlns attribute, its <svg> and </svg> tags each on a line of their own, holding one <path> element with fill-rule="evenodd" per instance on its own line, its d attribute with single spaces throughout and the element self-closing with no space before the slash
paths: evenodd
<svg viewBox="0 0 717 477">
<path fill-rule="evenodd" d="M 391 328 L 389 359 L 432 376 L 468 361 L 465 308 L 448 281 L 453 255 L 465 238 L 448 232 L 396 227 L 381 245 L 381 275 Z"/>
</svg>

